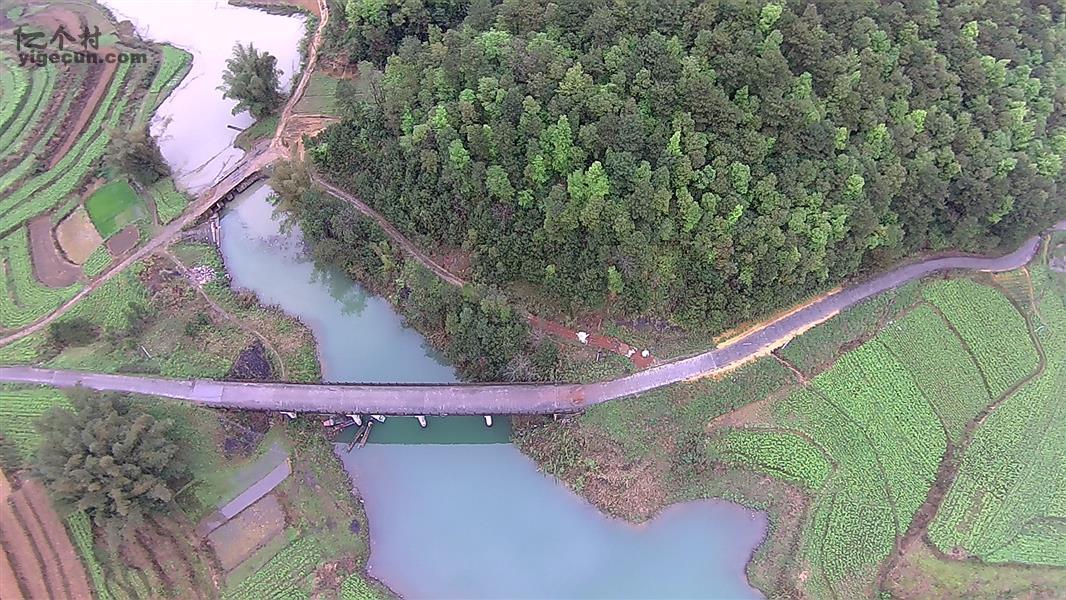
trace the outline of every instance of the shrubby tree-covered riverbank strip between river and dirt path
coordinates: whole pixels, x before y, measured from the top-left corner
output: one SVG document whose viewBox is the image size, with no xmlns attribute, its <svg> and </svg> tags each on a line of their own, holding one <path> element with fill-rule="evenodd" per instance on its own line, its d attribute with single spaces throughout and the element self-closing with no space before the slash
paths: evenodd
<svg viewBox="0 0 1066 600">
<path fill-rule="evenodd" d="M 298 164 L 276 171 L 279 208 L 303 231 L 316 261 L 332 264 L 386 298 L 405 323 L 468 380 L 548 380 L 558 351 L 488 287 L 453 287 L 410 260 L 377 224 L 346 202 L 311 190 Z"/>
</svg>

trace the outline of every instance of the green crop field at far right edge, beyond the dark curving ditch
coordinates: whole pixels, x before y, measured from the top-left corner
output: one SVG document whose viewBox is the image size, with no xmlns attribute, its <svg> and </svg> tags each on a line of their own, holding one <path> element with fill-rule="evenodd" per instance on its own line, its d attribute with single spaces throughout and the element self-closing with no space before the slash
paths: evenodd
<svg viewBox="0 0 1066 600">
<path fill-rule="evenodd" d="M 930 538 L 989 563 L 1066 566 L 1066 302 L 1046 269 L 1033 285 L 1045 368 L 976 429 Z"/>
</svg>

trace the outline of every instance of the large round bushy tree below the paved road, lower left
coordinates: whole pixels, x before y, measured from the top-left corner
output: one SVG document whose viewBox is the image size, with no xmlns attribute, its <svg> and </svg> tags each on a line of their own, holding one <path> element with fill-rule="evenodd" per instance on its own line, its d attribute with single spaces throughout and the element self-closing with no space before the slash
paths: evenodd
<svg viewBox="0 0 1066 600">
<path fill-rule="evenodd" d="M 114 393 L 76 390 L 70 403 L 72 412 L 52 408 L 36 424 L 35 471 L 52 494 L 115 532 L 169 504 L 185 473 L 171 421 Z"/>
</svg>

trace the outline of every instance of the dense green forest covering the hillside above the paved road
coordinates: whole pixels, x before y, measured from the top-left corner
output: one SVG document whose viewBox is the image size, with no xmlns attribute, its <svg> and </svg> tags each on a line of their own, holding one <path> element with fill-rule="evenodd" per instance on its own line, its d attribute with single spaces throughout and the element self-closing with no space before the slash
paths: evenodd
<svg viewBox="0 0 1066 600">
<path fill-rule="evenodd" d="M 316 165 L 482 283 L 716 329 L 1066 216 L 1061 2 L 344 7 Z"/>
</svg>

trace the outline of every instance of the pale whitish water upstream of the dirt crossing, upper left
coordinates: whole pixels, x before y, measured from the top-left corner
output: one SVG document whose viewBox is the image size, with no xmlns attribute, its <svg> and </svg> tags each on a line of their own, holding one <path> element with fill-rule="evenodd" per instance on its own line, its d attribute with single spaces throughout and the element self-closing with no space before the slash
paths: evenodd
<svg viewBox="0 0 1066 600">
<path fill-rule="evenodd" d="M 252 125 L 247 112 L 232 114 L 235 100 L 219 91 L 226 60 L 237 43 L 252 43 L 277 59 L 281 87 L 288 91 L 300 68 L 303 17 L 280 17 L 230 6 L 224 0 L 102 0 L 118 19 L 129 19 L 148 39 L 166 42 L 193 54 L 192 70 L 156 111 L 151 132 L 182 188 L 196 192 L 244 155 L 233 148 L 239 129 Z"/>
</svg>

